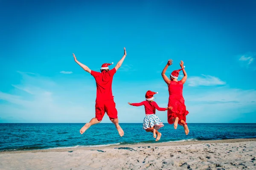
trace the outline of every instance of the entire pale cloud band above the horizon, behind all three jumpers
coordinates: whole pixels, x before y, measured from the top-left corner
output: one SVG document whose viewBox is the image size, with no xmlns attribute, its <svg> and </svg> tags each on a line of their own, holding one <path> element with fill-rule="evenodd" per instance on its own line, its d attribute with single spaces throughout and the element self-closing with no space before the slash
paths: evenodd
<svg viewBox="0 0 256 170">
<path fill-rule="evenodd" d="M 89 74 L 73 79 L 50 79 L 38 74 L 22 74 L 20 84 L 11 91 L 0 91 L 0 122 L 88 122 L 95 116 L 96 85 Z M 117 81 L 117 79 L 116 79 Z M 145 100 L 147 90 L 158 91 L 156 102 L 160 107 L 168 104 L 168 88 L 161 79 L 141 82 L 114 82 L 119 122 L 143 122 L 143 107 L 132 107 L 127 102 Z M 125 91 L 123 88 L 125 87 Z M 184 86 L 184 99 L 189 115 L 187 122 L 255 122 L 247 113 L 256 113 L 256 91 L 231 89 L 227 86 L 194 88 Z M 125 97 L 124 97 L 125 96 Z M 157 111 L 167 122 L 167 112 Z M 12 117 L 12 118 L 11 118 Z M 132 119 L 131 119 L 132 118 Z M 235 119 L 237 119 L 235 121 Z M 105 115 L 102 122 L 110 122 Z"/>
</svg>

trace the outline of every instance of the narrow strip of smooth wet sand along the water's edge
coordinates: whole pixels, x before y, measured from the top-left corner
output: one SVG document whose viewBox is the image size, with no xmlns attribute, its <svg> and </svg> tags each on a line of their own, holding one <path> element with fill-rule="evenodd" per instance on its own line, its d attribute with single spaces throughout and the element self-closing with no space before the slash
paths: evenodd
<svg viewBox="0 0 256 170">
<path fill-rule="evenodd" d="M 140 144 L 118 144 L 99 147 L 71 147 L 71 148 L 56 148 L 56 149 L 40 149 L 40 150 L 8 150 L 0 151 L 0 154 L 7 153 L 44 153 L 44 152 L 73 152 L 76 150 L 100 150 L 114 148 L 131 148 L 131 147 L 169 147 L 169 146 L 184 146 L 191 144 L 213 144 L 213 143 L 237 143 L 237 142 L 256 142 L 256 138 L 250 139 L 222 139 L 222 140 L 202 140 L 202 141 L 184 141 L 184 142 L 159 142 L 159 143 L 140 143 Z"/>
</svg>

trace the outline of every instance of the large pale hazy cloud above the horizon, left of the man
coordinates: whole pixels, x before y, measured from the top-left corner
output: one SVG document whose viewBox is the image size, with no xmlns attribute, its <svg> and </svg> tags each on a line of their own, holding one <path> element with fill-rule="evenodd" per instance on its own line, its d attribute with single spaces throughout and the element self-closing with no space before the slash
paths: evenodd
<svg viewBox="0 0 256 170">
<path fill-rule="evenodd" d="M 79 83 L 54 82 L 40 75 L 20 74 L 20 84 L 12 85 L 15 88 L 8 93 L 0 91 L 0 100 L 4 101 L 0 102 L 0 122 L 86 122 L 94 116 L 94 84 L 84 85 L 81 79 Z"/>
</svg>

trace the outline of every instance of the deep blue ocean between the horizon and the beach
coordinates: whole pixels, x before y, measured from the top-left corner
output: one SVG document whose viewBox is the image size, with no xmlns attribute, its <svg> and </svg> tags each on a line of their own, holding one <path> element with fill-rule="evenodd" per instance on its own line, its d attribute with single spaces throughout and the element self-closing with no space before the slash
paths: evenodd
<svg viewBox="0 0 256 170">
<path fill-rule="evenodd" d="M 152 133 L 145 132 L 142 123 L 120 123 L 125 132 L 120 137 L 112 123 L 91 126 L 83 135 L 84 123 L 1 123 L 0 151 L 38 150 L 73 147 L 96 147 L 120 144 L 156 143 Z M 189 123 L 189 135 L 183 127 L 164 124 L 159 142 L 216 139 L 256 138 L 256 124 Z"/>
</svg>

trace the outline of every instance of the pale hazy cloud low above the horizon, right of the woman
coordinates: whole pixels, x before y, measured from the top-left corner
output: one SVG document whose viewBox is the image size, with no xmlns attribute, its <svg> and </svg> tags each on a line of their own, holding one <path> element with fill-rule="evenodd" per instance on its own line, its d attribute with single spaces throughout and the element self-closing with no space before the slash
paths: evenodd
<svg viewBox="0 0 256 170">
<path fill-rule="evenodd" d="M 256 91 L 254 89 L 227 87 L 205 89 L 200 93 L 192 92 L 184 98 L 189 111 L 187 120 L 190 122 L 255 123 L 256 121 Z"/>
</svg>

